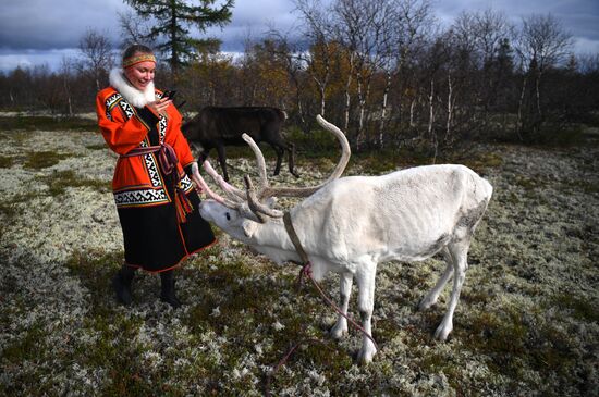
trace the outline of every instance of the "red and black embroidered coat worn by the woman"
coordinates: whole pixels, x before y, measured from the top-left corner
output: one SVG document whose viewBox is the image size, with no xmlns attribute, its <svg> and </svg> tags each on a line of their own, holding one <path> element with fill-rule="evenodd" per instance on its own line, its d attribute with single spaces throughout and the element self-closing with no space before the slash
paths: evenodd
<svg viewBox="0 0 599 397">
<path fill-rule="evenodd" d="M 162 94 L 156 91 L 156 97 Z M 188 255 L 211 245 L 215 236 L 197 210 L 200 202 L 186 173 L 194 161 L 181 133 L 174 106 L 157 116 L 148 107 L 135 108 L 113 87 L 96 98 L 100 132 L 117 161 L 112 189 L 123 231 L 125 263 L 148 271 L 176 266 Z M 133 149 L 167 144 L 178 157 L 175 171 L 163 170 L 158 152 L 123 157 Z M 184 191 L 193 211 L 178 220 L 176 190 Z"/>
</svg>

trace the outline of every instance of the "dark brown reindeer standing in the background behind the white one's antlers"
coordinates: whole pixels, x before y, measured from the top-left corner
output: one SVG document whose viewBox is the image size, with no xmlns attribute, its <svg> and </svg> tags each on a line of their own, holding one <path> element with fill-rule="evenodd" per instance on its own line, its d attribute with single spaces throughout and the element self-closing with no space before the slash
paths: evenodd
<svg viewBox="0 0 599 397">
<path fill-rule="evenodd" d="M 212 148 L 217 149 L 220 168 L 225 181 L 227 158 L 224 147 L 246 146 L 242 134 L 249 135 L 256 142 L 267 142 L 277 152 L 277 166 L 274 175 L 281 171 L 281 162 L 285 151 L 289 152 L 289 171 L 298 176 L 294 171 L 295 147 L 284 141 L 281 129 L 286 119 L 285 112 L 278 108 L 269 107 L 206 107 L 191 121 L 183 124 L 181 131 L 190 144 L 199 146 L 200 154 L 198 163 L 201 164 Z"/>
</svg>

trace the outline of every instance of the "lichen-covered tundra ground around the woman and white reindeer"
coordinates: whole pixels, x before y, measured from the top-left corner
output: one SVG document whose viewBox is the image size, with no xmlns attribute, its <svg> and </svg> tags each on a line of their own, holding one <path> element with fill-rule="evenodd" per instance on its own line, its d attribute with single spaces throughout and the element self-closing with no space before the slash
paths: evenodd
<svg viewBox="0 0 599 397">
<path fill-rule="evenodd" d="M 305 344 L 270 382 L 279 396 L 590 396 L 599 390 L 599 148 L 486 146 L 469 165 L 494 187 L 469 253 L 447 343 L 444 313 L 419 312 L 443 263 L 391 262 L 377 275 L 375 361 L 360 336 L 327 338 L 335 315 L 277 266 L 219 233 L 178 272 L 186 303 L 162 303 L 140 274 L 134 303 L 110 280 L 122 235 L 110 190 L 117 160 L 93 131 L 0 132 L 0 395 L 262 395 L 290 346 Z M 239 186 L 253 159 L 229 159 Z M 272 168 L 272 157 L 269 168 Z M 316 165 L 315 165 L 316 164 Z M 302 161 L 316 184 L 331 161 Z M 346 174 L 368 174 L 355 160 Z M 334 275 L 323 283 L 338 296 Z M 354 287 L 355 288 L 355 287 Z M 355 293 L 350 308 L 356 315 Z"/>
</svg>

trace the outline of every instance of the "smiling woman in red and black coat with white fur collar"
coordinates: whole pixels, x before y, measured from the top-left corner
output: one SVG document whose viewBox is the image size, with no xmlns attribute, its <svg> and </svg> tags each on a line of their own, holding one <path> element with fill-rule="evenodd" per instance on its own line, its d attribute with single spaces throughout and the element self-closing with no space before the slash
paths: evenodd
<svg viewBox="0 0 599 397">
<path fill-rule="evenodd" d="M 151 49 L 127 48 L 122 69 L 110 72 L 110 87 L 98 94 L 96 110 L 106 142 L 120 154 L 112 189 L 125 263 L 112 282 L 117 298 L 131 303 L 133 276 L 143 269 L 160 274 L 160 298 L 176 308 L 173 269 L 215 236 L 197 210 L 200 200 L 188 177 L 197 163 L 181 133 L 181 114 L 155 90 L 155 67 Z"/>
</svg>

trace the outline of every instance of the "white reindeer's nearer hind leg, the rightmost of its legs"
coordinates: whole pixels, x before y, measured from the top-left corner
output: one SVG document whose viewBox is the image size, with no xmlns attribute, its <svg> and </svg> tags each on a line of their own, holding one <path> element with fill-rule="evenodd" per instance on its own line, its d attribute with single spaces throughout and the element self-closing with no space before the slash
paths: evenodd
<svg viewBox="0 0 599 397">
<path fill-rule="evenodd" d="M 457 306 L 457 300 L 460 299 L 460 291 L 464 285 L 464 278 L 466 277 L 466 269 L 468 268 L 467 256 L 470 241 L 469 238 L 464 238 L 456 243 L 450 243 L 448 248 L 452 257 L 453 262 L 453 289 L 451 291 L 451 298 L 448 306 L 448 311 L 443 317 L 443 321 L 437 331 L 435 332 L 435 337 L 440 340 L 445 340 L 448 335 L 453 330 L 453 312 Z"/>
</svg>

